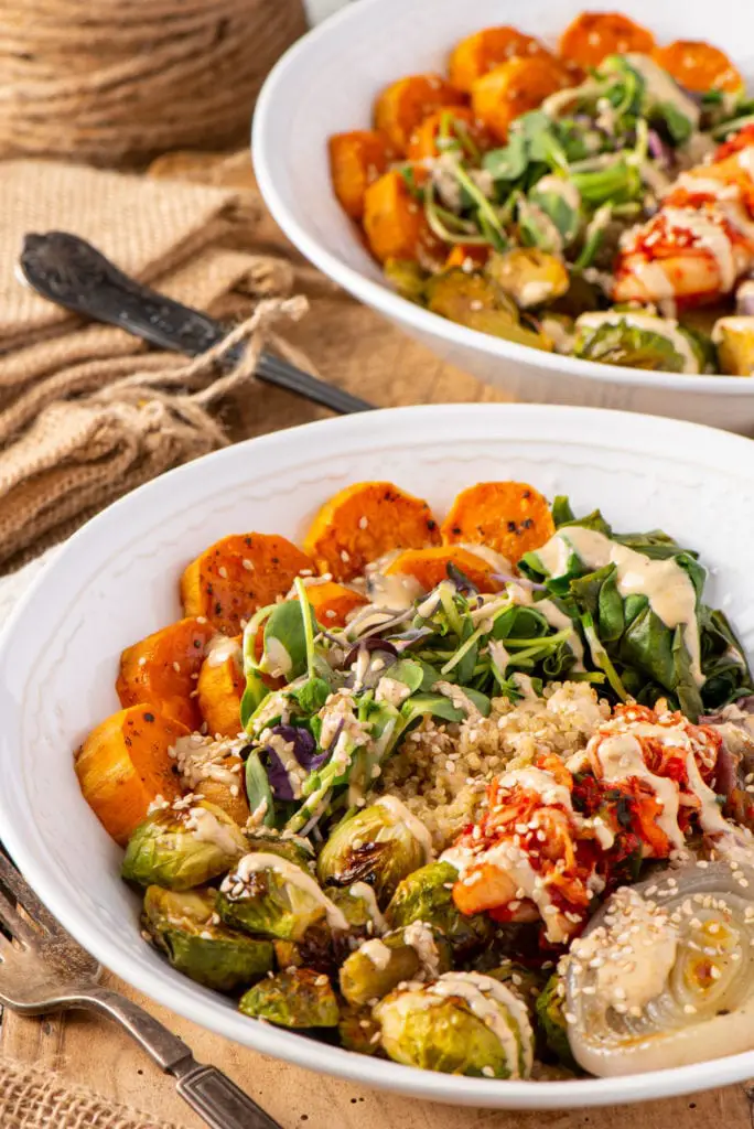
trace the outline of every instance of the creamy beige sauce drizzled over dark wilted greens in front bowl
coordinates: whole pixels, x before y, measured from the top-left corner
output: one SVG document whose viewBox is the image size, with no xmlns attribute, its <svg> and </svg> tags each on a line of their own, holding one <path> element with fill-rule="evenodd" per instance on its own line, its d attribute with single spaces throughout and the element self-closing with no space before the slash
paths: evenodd
<svg viewBox="0 0 754 1129">
<path fill-rule="evenodd" d="M 570 550 L 589 569 L 615 564 L 617 590 L 622 596 L 647 596 L 649 606 L 667 628 L 683 628 L 692 676 L 696 685 L 703 685 L 696 593 L 689 575 L 675 560 L 651 560 L 628 545 L 611 541 L 596 530 L 579 525 L 568 526 L 555 533 L 546 544 L 537 549 L 537 557 L 552 577 L 559 577 L 566 572 Z"/>
</svg>

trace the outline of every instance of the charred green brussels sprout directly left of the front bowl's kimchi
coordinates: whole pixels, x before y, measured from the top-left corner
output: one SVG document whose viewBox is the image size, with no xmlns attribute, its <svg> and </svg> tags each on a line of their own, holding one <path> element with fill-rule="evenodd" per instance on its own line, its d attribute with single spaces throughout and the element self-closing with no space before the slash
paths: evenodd
<svg viewBox="0 0 754 1129">
<path fill-rule="evenodd" d="M 491 920 L 483 913 L 466 917 L 453 901 L 456 868 L 449 863 L 430 863 L 414 870 L 398 885 L 385 910 L 393 929 L 427 921 L 444 934 L 453 952 L 465 957 L 486 945 L 493 933 Z"/>
</svg>

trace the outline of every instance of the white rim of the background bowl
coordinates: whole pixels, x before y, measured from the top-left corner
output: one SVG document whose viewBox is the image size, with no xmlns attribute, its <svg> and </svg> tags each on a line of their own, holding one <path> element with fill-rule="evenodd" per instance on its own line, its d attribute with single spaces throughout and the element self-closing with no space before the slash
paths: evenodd
<svg viewBox="0 0 754 1129">
<path fill-rule="evenodd" d="M 479 330 L 470 330 L 464 325 L 449 322 L 422 309 L 407 298 L 402 298 L 384 282 L 367 278 L 361 271 L 344 263 L 336 254 L 309 235 L 299 222 L 296 215 L 286 204 L 278 192 L 272 173 L 272 157 L 280 148 L 279 131 L 275 129 L 277 103 L 279 91 L 291 84 L 291 77 L 301 59 L 316 51 L 321 43 L 326 43 L 331 36 L 337 35 L 341 28 L 356 27 L 363 12 L 376 8 L 383 0 L 359 0 L 359 3 L 330 16 L 324 23 L 312 28 L 295 43 L 275 63 L 268 75 L 254 111 L 252 120 L 252 161 L 256 181 L 266 207 L 273 219 L 299 251 L 324 274 L 334 279 L 343 289 L 359 298 L 366 305 L 374 307 L 386 317 L 405 323 L 428 336 L 437 336 L 448 344 L 476 352 L 486 353 L 500 361 L 520 365 L 538 365 L 561 376 L 594 380 L 597 384 L 617 384 L 639 388 L 656 388 L 661 391 L 678 391 L 696 393 L 718 393 L 722 396 L 747 396 L 754 394 L 754 380 L 740 376 L 711 376 L 681 373 L 651 373 L 638 368 L 620 368 L 598 361 L 581 360 L 578 357 L 566 357 L 556 352 L 533 349 L 531 345 L 518 344 L 493 338 Z M 354 126 L 356 128 L 356 126 Z M 356 225 L 350 220 L 356 238 Z"/>
</svg>

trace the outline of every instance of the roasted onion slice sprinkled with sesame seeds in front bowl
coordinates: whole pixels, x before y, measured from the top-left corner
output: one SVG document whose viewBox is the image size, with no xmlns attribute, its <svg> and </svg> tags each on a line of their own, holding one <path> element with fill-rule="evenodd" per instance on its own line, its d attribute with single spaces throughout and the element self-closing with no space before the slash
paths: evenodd
<svg viewBox="0 0 754 1129">
<path fill-rule="evenodd" d="M 566 1016 L 598 1077 L 754 1048 L 754 865 L 714 861 L 619 890 L 573 943 Z"/>
</svg>

